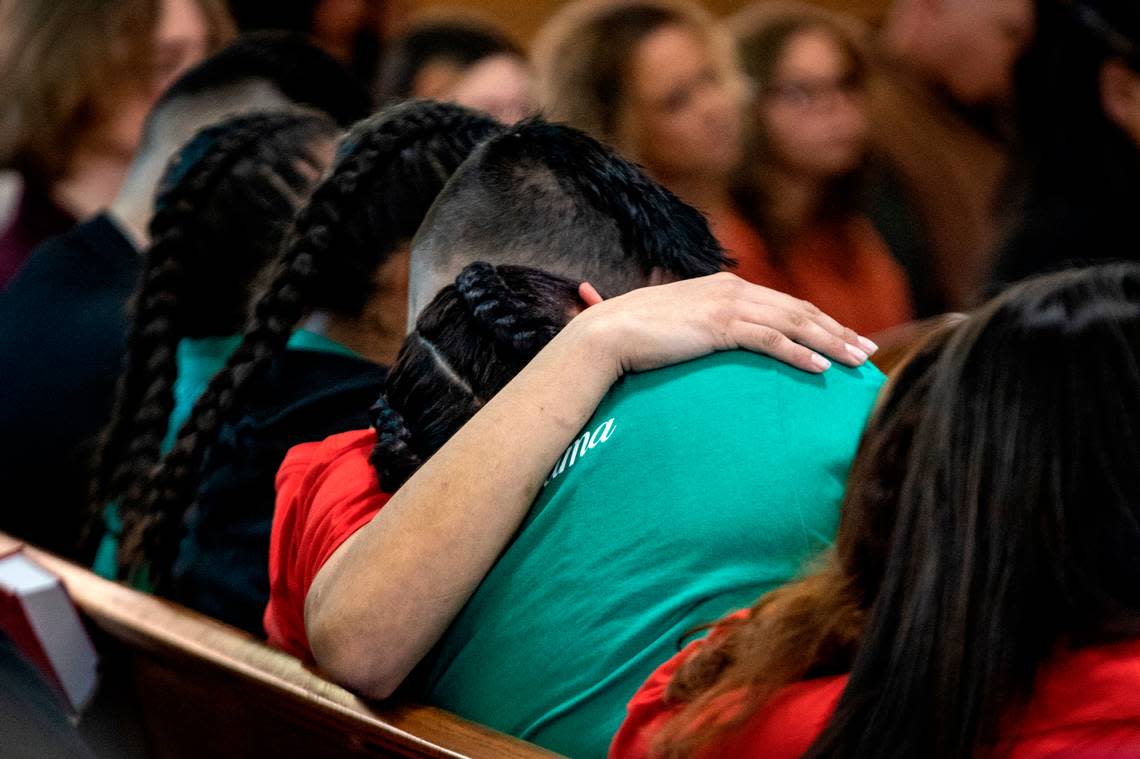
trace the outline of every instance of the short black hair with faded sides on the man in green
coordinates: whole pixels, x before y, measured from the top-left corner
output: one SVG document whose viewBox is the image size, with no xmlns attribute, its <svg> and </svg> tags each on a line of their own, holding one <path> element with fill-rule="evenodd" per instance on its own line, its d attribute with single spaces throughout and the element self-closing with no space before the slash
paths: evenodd
<svg viewBox="0 0 1140 759">
<path fill-rule="evenodd" d="M 531 119 L 478 148 L 424 219 L 413 266 L 474 260 L 587 279 L 606 295 L 730 263 L 692 206 L 585 132 Z"/>
</svg>

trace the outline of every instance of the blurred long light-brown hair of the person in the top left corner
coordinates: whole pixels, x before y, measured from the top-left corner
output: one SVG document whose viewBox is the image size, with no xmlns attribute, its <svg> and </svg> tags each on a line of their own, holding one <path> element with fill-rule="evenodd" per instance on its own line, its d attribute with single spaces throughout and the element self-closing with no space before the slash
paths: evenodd
<svg viewBox="0 0 1140 759">
<path fill-rule="evenodd" d="M 212 51 L 234 32 L 223 0 L 196 0 Z M 148 79 L 161 0 L 0 0 L 0 168 L 39 181 Z"/>
</svg>

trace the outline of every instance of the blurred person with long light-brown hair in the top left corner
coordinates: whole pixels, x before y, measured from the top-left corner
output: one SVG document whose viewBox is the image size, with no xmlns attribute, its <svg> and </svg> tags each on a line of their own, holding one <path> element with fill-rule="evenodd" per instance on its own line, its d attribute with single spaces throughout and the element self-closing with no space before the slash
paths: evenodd
<svg viewBox="0 0 1140 759">
<path fill-rule="evenodd" d="M 223 0 L 0 1 L 0 169 L 22 185 L 0 289 L 114 198 L 150 106 L 231 31 Z"/>
</svg>

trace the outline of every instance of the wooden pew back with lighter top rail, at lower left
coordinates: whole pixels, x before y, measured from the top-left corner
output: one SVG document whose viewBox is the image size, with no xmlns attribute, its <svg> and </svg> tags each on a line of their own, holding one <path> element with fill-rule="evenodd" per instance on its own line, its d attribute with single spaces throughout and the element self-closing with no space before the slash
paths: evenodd
<svg viewBox="0 0 1140 759">
<path fill-rule="evenodd" d="M 0 553 L 18 545 L 0 533 Z M 158 759 L 556 756 L 440 709 L 366 703 L 243 631 L 25 550 L 117 648 L 106 660 L 130 667 Z"/>
</svg>

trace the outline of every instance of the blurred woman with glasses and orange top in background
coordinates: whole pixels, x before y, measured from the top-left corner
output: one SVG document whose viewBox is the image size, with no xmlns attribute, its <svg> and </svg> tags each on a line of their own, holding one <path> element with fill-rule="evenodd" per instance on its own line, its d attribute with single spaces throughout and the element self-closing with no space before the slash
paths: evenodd
<svg viewBox="0 0 1140 759">
<path fill-rule="evenodd" d="M 754 91 L 735 195 L 764 242 L 760 255 L 739 256 L 738 274 L 862 334 L 910 320 L 906 275 L 858 210 L 869 134 L 857 22 L 763 2 L 733 30 Z"/>
</svg>

